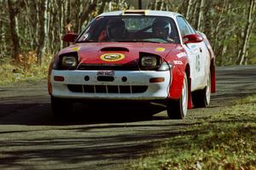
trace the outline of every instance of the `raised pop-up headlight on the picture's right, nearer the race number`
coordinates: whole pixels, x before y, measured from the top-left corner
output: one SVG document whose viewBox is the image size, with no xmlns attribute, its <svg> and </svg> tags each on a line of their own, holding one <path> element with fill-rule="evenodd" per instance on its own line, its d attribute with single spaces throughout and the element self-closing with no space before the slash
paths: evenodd
<svg viewBox="0 0 256 170">
<path fill-rule="evenodd" d="M 157 70 L 160 66 L 160 57 L 157 55 L 143 55 L 140 57 L 139 65 L 142 70 Z"/>
</svg>

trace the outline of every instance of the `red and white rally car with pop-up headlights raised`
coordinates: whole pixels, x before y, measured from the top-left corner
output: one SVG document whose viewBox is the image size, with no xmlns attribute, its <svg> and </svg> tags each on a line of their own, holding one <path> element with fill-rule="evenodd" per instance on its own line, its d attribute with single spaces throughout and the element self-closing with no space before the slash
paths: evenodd
<svg viewBox="0 0 256 170">
<path fill-rule="evenodd" d="M 55 116 L 77 101 L 144 101 L 166 105 L 172 119 L 206 107 L 215 92 L 215 57 L 207 37 L 183 15 L 154 10 L 100 14 L 49 66 Z"/>
</svg>

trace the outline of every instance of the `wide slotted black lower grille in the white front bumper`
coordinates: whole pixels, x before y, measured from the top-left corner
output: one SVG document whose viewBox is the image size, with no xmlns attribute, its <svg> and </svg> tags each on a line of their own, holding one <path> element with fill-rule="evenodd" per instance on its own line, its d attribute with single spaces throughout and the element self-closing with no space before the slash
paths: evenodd
<svg viewBox="0 0 256 170">
<path fill-rule="evenodd" d="M 141 94 L 148 86 L 114 86 L 114 85 L 73 85 L 68 84 L 71 92 L 84 94 Z"/>
</svg>

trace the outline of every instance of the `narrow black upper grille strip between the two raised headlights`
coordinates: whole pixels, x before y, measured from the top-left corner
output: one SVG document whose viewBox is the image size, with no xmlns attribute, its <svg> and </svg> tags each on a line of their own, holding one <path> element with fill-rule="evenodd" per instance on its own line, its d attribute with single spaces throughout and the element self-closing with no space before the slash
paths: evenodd
<svg viewBox="0 0 256 170">
<path fill-rule="evenodd" d="M 138 71 L 137 64 L 133 65 L 79 65 L 79 70 L 83 71 Z"/>
</svg>

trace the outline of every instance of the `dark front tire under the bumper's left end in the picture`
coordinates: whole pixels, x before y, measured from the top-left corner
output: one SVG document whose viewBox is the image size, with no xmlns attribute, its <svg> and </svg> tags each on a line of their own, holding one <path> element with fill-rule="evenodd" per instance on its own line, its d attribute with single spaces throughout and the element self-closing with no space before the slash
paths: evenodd
<svg viewBox="0 0 256 170">
<path fill-rule="evenodd" d="M 68 99 L 50 97 L 51 111 L 57 119 L 67 118 L 73 110 L 73 104 Z"/>
</svg>

